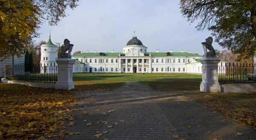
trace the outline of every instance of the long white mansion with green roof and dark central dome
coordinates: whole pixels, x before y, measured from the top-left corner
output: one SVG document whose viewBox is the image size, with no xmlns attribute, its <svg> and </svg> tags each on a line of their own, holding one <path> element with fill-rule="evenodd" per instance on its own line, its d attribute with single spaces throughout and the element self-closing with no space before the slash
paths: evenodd
<svg viewBox="0 0 256 140">
<path fill-rule="evenodd" d="M 134 36 L 122 47 L 122 52 L 97 52 L 75 54 L 73 72 L 116 73 L 202 73 L 203 56 L 184 52 L 147 52 L 147 47 Z M 220 64 L 219 64 L 220 65 Z"/>
</svg>

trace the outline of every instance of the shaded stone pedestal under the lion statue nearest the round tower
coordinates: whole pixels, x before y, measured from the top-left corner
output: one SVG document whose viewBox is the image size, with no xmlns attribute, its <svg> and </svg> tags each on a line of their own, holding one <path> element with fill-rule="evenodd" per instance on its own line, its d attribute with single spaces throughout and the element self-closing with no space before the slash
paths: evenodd
<svg viewBox="0 0 256 140">
<path fill-rule="evenodd" d="M 56 63 L 58 64 L 58 81 L 55 83 L 55 89 L 74 89 L 73 65 L 75 61 L 70 58 L 58 58 Z"/>
</svg>

